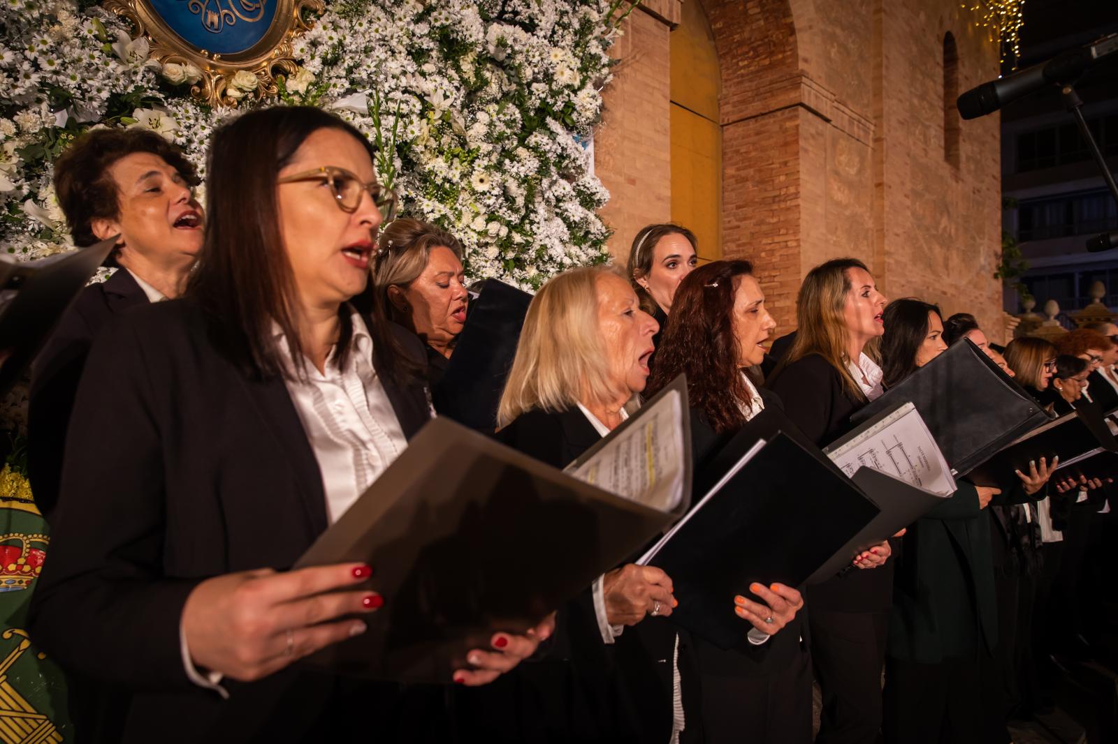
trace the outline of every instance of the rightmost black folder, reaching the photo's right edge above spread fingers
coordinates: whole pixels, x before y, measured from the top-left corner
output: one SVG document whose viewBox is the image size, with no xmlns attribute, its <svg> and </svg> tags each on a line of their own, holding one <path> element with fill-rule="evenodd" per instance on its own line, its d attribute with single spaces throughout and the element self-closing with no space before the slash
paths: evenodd
<svg viewBox="0 0 1118 744">
<path fill-rule="evenodd" d="M 1030 460 L 1039 462 L 1042 457 L 1050 465 L 1054 457 L 1060 458 L 1058 478 L 1060 474 L 1080 473 L 1099 477 L 1092 475 L 1084 456 L 1101 452 L 1118 452 L 1118 442 L 1106 423 L 1086 411 L 1072 411 L 1013 441 L 968 473 L 967 479 L 978 486 L 998 486 L 1007 478 L 1015 478 L 1014 470 L 1029 473 Z M 1065 473 L 1065 468 L 1073 469 Z"/>
</svg>

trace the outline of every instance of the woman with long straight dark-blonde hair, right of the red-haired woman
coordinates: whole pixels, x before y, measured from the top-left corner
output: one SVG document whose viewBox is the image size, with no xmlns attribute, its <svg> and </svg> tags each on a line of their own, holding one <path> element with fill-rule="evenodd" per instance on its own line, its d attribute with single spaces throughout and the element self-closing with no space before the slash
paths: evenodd
<svg viewBox="0 0 1118 744">
<path fill-rule="evenodd" d="M 882 393 L 874 361 L 885 297 L 865 265 L 816 266 L 796 298 L 796 338 L 768 387 L 788 418 L 821 447 L 850 428 L 851 414 Z M 892 605 L 888 542 L 862 553 L 854 571 L 809 586 L 812 664 L 823 693 L 818 744 L 873 744 L 881 728 L 881 669 Z"/>
</svg>

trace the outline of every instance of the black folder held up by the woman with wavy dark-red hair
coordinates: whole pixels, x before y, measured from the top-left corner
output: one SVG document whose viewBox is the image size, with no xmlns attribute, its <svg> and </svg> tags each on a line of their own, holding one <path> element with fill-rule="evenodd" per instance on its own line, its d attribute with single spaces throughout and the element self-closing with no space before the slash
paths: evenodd
<svg viewBox="0 0 1118 744">
<path fill-rule="evenodd" d="M 672 578 L 670 619 L 727 649 L 748 643 L 735 594 L 754 581 L 803 584 L 879 513 L 818 449 L 784 432 L 695 508 L 648 564 Z"/>
</svg>

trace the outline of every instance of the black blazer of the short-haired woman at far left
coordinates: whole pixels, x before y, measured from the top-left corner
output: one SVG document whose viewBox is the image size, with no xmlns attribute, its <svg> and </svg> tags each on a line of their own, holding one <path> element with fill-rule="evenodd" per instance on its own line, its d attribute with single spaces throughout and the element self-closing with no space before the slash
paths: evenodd
<svg viewBox="0 0 1118 744">
<path fill-rule="evenodd" d="M 39 512 L 51 522 L 61 481 L 63 448 L 85 357 L 101 328 L 116 315 L 148 305 L 125 269 L 78 294 L 35 360 L 27 412 L 27 466 Z"/>
</svg>

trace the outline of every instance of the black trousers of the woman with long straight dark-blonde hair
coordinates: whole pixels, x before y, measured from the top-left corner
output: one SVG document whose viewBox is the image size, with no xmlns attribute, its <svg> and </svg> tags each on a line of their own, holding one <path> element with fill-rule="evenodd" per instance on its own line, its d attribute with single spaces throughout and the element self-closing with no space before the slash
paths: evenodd
<svg viewBox="0 0 1118 744">
<path fill-rule="evenodd" d="M 812 666 L 823 694 L 816 744 L 875 744 L 881 738 L 881 670 L 889 612 L 814 607 Z"/>
</svg>

